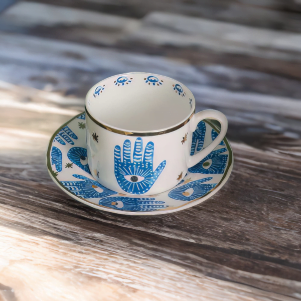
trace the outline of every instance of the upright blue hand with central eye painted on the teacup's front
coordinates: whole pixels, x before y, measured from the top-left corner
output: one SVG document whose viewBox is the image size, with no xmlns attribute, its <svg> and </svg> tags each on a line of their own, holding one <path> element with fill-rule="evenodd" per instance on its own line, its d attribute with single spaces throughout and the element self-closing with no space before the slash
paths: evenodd
<svg viewBox="0 0 301 301">
<path fill-rule="evenodd" d="M 123 143 L 123 160 L 121 161 L 121 148 L 119 145 L 114 149 L 115 177 L 121 189 L 132 194 L 147 192 L 156 182 L 166 161 L 161 162 L 155 172 L 153 171 L 154 142 L 146 144 L 142 161 L 142 139 L 135 141 L 133 162 L 131 162 L 131 143 L 126 139 Z"/>
</svg>

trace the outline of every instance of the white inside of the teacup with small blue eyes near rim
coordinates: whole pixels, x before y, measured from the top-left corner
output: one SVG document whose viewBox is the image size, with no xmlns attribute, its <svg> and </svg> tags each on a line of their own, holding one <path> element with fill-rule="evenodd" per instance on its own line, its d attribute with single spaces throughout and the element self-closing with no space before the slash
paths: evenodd
<svg viewBox="0 0 301 301">
<path fill-rule="evenodd" d="M 93 86 L 86 108 L 98 122 L 131 132 L 161 131 L 181 124 L 195 109 L 191 91 L 182 83 L 152 73 L 109 77 Z"/>
</svg>

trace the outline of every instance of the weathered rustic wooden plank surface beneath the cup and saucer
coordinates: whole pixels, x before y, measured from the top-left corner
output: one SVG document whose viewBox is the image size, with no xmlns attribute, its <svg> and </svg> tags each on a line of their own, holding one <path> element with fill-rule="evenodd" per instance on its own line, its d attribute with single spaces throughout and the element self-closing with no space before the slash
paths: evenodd
<svg viewBox="0 0 301 301">
<path fill-rule="evenodd" d="M 301 299 L 300 45 L 299 0 L 41 0 L 3 10 L 0 300 Z M 49 178 L 51 134 L 83 110 L 93 84 L 127 71 L 176 78 L 198 110 L 227 115 L 234 168 L 210 200 L 117 216 Z"/>
</svg>

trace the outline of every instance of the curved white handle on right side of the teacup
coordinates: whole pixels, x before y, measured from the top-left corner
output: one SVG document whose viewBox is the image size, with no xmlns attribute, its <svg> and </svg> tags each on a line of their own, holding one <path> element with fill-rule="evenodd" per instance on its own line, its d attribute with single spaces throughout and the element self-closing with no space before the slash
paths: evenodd
<svg viewBox="0 0 301 301">
<path fill-rule="evenodd" d="M 190 129 L 194 132 L 198 126 L 198 123 L 203 119 L 214 119 L 219 121 L 221 124 L 221 131 L 218 136 L 205 148 L 203 148 L 198 154 L 190 155 L 188 159 L 188 168 L 195 166 L 198 164 L 202 159 L 208 156 L 212 150 L 223 140 L 226 135 L 228 129 L 228 120 L 227 117 L 220 111 L 217 110 L 204 110 L 194 114 L 191 118 Z"/>
</svg>

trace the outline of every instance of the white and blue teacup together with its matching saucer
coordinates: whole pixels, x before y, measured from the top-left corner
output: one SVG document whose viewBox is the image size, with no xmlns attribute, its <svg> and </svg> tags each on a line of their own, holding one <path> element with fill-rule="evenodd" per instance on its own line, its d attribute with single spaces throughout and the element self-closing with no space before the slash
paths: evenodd
<svg viewBox="0 0 301 301">
<path fill-rule="evenodd" d="M 93 86 L 85 112 L 54 133 L 47 167 L 60 188 L 91 207 L 176 212 L 207 200 L 228 180 L 227 126 L 219 111 L 195 113 L 192 92 L 172 78 L 116 75 Z"/>
</svg>

